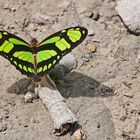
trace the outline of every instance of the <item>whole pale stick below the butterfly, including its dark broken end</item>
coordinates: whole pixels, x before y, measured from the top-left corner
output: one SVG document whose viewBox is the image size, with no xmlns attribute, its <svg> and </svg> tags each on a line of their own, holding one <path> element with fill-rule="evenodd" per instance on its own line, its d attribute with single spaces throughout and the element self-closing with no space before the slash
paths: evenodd
<svg viewBox="0 0 140 140">
<path fill-rule="evenodd" d="M 27 93 L 27 102 L 32 96 Z M 77 117 L 68 108 L 65 99 L 58 91 L 55 83 L 49 75 L 41 78 L 39 87 L 35 88 L 35 95 L 38 95 L 44 106 L 49 111 L 54 122 L 55 134 L 63 135 L 70 133 L 73 135 L 73 140 L 85 140 L 86 135 L 78 124 Z M 26 96 L 25 96 L 26 97 Z"/>
</svg>

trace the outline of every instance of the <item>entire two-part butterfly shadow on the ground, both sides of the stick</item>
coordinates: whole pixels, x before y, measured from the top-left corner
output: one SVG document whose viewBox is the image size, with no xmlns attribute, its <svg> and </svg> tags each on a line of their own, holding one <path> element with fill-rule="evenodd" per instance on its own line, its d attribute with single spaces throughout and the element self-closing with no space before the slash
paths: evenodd
<svg viewBox="0 0 140 140">
<path fill-rule="evenodd" d="M 31 84 L 30 78 L 23 78 L 12 84 L 7 91 L 14 94 L 26 94 Z M 77 72 L 68 73 L 61 80 L 54 80 L 63 97 L 109 97 L 114 96 L 114 88 L 101 84 L 92 77 Z"/>
</svg>

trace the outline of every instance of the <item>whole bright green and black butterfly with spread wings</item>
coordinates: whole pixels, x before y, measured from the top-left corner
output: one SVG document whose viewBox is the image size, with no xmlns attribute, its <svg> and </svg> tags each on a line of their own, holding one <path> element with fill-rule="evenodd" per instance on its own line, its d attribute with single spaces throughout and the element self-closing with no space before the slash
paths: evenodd
<svg viewBox="0 0 140 140">
<path fill-rule="evenodd" d="M 52 34 L 40 43 L 0 31 L 0 55 L 27 76 L 48 73 L 60 59 L 78 46 L 87 36 L 87 29 L 71 27 Z"/>
</svg>

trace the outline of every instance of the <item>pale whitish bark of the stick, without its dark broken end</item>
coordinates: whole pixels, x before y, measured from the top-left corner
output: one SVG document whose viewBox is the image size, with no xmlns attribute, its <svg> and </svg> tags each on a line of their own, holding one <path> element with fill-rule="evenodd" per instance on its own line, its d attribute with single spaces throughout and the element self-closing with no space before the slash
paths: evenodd
<svg viewBox="0 0 140 140">
<path fill-rule="evenodd" d="M 38 88 L 37 91 L 39 98 L 51 115 L 55 129 L 61 129 L 67 123 L 77 122 L 76 116 L 70 111 L 58 90 L 42 87 Z"/>
</svg>

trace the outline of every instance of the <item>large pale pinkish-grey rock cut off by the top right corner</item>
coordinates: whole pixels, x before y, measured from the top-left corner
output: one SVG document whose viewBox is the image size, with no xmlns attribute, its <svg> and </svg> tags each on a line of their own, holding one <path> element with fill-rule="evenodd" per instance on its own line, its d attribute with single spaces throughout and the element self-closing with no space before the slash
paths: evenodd
<svg viewBox="0 0 140 140">
<path fill-rule="evenodd" d="M 130 31 L 140 34 L 140 0 L 121 0 L 117 11 Z"/>
</svg>

